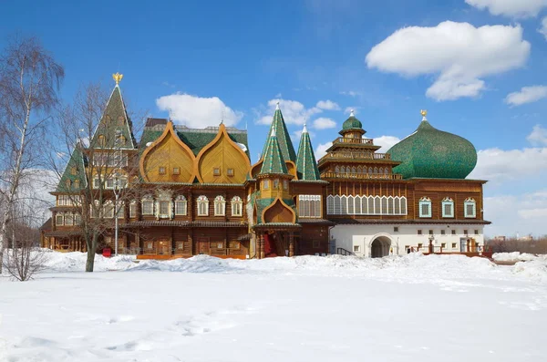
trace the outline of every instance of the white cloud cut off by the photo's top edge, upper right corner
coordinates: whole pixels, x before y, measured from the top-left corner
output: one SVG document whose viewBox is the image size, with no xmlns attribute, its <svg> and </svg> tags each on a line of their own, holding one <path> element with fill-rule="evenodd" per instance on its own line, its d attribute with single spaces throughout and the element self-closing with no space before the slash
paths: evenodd
<svg viewBox="0 0 547 362">
<path fill-rule="evenodd" d="M 547 0 L 465 0 L 480 10 L 488 9 L 494 16 L 530 17 L 537 16 Z"/>
</svg>

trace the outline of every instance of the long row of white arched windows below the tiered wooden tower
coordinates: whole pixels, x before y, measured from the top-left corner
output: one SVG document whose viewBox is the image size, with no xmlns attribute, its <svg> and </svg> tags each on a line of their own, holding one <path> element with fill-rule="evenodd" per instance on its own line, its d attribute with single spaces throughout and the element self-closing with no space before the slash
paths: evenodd
<svg viewBox="0 0 547 362">
<path fill-rule="evenodd" d="M 406 215 L 405 196 L 328 195 L 326 213 L 331 215 Z"/>
</svg>

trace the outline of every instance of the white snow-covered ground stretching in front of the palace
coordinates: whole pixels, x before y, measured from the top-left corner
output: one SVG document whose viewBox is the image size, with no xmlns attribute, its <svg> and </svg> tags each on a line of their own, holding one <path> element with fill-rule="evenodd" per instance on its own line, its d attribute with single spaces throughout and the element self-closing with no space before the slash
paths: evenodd
<svg viewBox="0 0 547 362">
<path fill-rule="evenodd" d="M 545 361 L 547 259 L 49 253 L 0 278 L 0 361 Z"/>
</svg>

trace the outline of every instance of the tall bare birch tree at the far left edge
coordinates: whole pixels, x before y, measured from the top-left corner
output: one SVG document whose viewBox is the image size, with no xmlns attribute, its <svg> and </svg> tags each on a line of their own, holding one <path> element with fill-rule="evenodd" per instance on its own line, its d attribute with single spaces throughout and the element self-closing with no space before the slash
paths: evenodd
<svg viewBox="0 0 547 362">
<path fill-rule="evenodd" d="M 12 39 L 0 55 L 0 273 L 17 192 L 39 160 L 64 68 L 34 38 Z"/>
</svg>

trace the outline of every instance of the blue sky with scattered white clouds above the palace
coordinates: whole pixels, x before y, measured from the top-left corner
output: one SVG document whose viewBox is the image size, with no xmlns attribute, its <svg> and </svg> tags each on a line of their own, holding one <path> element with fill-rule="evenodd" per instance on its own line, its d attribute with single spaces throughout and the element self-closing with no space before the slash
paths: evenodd
<svg viewBox="0 0 547 362">
<path fill-rule="evenodd" d="M 21 0 L 0 10 L 0 34 L 38 36 L 66 67 L 64 98 L 89 81 L 111 86 L 119 71 L 129 110 L 248 127 L 253 161 L 276 99 L 295 148 L 306 119 L 318 153 L 347 109 L 384 151 L 428 109 L 433 126 L 479 150 L 471 176 L 489 180 L 487 234 L 547 233 L 545 0 Z"/>
</svg>

